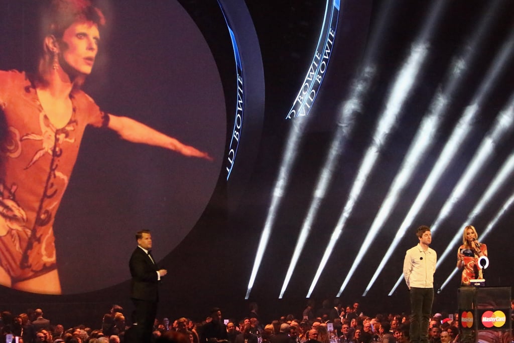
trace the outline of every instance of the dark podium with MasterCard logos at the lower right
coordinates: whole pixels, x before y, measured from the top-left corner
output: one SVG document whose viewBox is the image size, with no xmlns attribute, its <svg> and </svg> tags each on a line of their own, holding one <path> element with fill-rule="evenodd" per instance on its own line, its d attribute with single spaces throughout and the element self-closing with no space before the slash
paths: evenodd
<svg viewBox="0 0 514 343">
<path fill-rule="evenodd" d="M 510 343 L 510 287 L 458 288 L 458 327 L 462 343 Z"/>
</svg>

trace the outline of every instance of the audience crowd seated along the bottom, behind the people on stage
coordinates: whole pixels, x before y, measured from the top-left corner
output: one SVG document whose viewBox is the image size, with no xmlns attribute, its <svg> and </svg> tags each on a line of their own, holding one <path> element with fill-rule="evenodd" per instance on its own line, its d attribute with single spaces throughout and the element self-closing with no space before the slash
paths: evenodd
<svg viewBox="0 0 514 343">
<path fill-rule="evenodd" d="M 201 322 L 183 317 L 156 319 L 153 338 L 156 343 L 409 343 L 409 316 L 369 315 L 357 302 L 342 306 L 337 300 L 333 304 L 325 300 L 319 309 L 315 308 L 314 302 L 309 302 L 301 318 L 288 314 L 271 322 L 261 322 L 258 306 L 252 303 L 250 311 L 241 320 L 222 318 L 221 310 L 215 308 Z M 2 342 L 11 336 L 13 343 L 136 342 L 137 323 L 128 326 L 119 305 L 113 305 L 103 316 L 100 328 L 78 325 L 65 329 L 45 318 L 41 309 L 20 315 L 3 311 L 1 319 Z M 458 342 L 458 332 L 457 313 L 433 315 L 430 343 Z"/>
</svg>

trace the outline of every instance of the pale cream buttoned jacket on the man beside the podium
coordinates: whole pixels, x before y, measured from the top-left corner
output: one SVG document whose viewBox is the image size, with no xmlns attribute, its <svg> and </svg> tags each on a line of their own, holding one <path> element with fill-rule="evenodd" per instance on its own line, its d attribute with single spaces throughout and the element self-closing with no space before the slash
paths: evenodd
<svg viewBox="0 0 514 343">
<path fill-rule="evenodd" d="M 403 277 L 411 287 L 433 288 L 437 253 L 434 249 L 423 250 L 420 244 L 407 250 L 403 260 Z"/>
</svg>

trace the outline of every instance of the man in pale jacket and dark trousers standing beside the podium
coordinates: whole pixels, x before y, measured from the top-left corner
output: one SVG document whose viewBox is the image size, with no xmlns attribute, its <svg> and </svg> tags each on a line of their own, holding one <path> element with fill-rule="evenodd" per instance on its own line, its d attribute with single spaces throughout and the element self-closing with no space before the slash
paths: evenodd
<svg viewBox="0 0 514 343">
<path fill-rule="evenodd" d="M 403 261 L 403 276 L 410 290 L 411 343 L 428 343 L 428 324 L 434 300 L 435 250 L 429 248 L 432 234 L 428 226 L 417 228 L 419 244 L 407 250 Z"/>
</svg>

